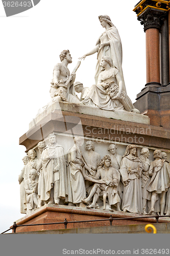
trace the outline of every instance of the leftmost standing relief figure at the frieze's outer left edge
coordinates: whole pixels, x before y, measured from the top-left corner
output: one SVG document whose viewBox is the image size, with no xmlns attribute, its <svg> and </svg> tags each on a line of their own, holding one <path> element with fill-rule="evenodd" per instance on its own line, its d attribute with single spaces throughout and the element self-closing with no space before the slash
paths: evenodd
<svg viewBox="0 0 170 256">
<path fill-rule="evenodd" d="M 22 158 L 22 161 L 23 161 L 23 164 L 25 166 L 23 166 L 22 170 L 21 170 L 21 173 L 19 174 L 19 177 L 18 177 L 18 181 L 19 181 L 19 184 L 20 184 L 20 213 L 21 214 L 26 214 L 26 209 L 27 209 L 27 206 L 26 206 L 26 191 L 25 191 L 25 168 L 26 168 L 26 165 L 27 163 L 29 162 L 29 156 L 25 156 Z"/>
</svg>

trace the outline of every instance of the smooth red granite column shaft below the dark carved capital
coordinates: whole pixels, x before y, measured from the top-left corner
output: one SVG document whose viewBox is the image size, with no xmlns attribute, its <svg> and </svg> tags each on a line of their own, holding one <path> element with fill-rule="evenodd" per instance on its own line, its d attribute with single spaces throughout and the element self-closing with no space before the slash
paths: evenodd
<svg viewBox="0 0 170 256">
<path fill-rule="evenodd" d="M 160 83 L 160 35 L 157 28 L 149 28 L 146 34 L 147 83 Z"/>
</svg>

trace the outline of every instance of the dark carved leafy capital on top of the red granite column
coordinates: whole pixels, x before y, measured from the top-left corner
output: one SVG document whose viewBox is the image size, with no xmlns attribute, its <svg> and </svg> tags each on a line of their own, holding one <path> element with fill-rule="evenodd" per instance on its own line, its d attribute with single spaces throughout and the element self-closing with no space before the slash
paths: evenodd
<svg viewBox="0 0 170 256">
<path fill-rule="evenodd" d="M 150 28 L 157 28 L 161 32 L 161 26 L 166 15 L 166 11 L 147 8 L 137 19 L 141 25 L 144 25 L 144 32 Z"/>
</svg>

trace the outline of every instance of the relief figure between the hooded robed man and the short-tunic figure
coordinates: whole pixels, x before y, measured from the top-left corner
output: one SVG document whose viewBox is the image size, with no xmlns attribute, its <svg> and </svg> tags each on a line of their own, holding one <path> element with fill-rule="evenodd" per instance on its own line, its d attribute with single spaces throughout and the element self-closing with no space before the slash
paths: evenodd
<svg viewBox="0 0 170 256">
<path fill-rule="evenodd" d="M 139 159 L 142 163 L 142 175 L 141 175 L 141 186 L 142 186 L 142 207 L 143 214 L 147 214 L 147 201 L 151 200 L 151 193 L 147 190 L 148 185 L 151 181 L 151 177 L 149 175 L 149 168 L 151 161 L 148 159 L 150 155 L 149 149 L 143 147 L 140 151 Z"/>
</svg>

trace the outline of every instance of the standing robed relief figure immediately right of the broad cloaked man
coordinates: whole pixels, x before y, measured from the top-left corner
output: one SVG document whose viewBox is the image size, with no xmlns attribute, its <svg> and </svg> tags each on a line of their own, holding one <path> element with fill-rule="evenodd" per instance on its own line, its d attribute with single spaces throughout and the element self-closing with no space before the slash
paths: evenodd
<svg viewBox="0 0 170 256">
<path fill-rule="evenodd" d="M 67 155 L 67 180 L 68 180 L 68 199 L 69 203 L 76 206 L 84 207 L 82 199 L 86 198 L 86 189 L 84 182 L 84 161 L 80 147 L 83 141 L 80 137 L 74 138 L 74 146 L 72 146 Z"/>
</svg>

